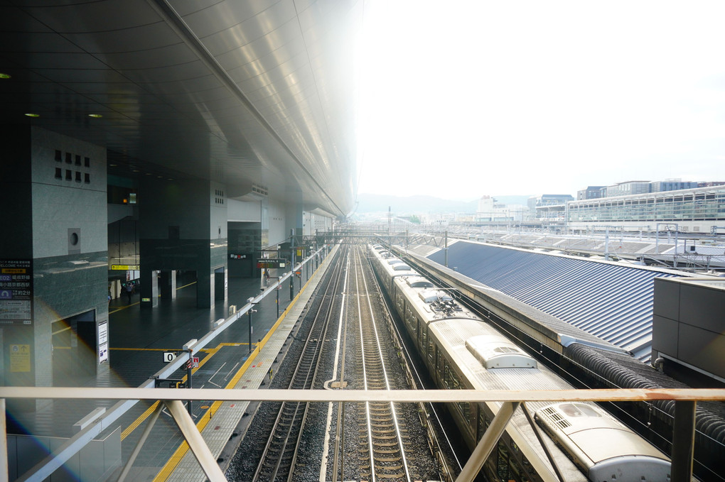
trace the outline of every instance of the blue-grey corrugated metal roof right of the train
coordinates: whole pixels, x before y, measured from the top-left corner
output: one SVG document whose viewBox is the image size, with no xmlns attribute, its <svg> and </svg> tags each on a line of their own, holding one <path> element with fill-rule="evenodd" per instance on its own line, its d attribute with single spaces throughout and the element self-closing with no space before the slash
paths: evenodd
<svg viewBox="0 0 725 482">
<path fill-rule="evenodd" d="M 443 251 L 428 256 L 444 263 Z M 448 266 L 493 289 L 634 353 L 652 350 L 655 277 L 678 274 L 457 241 Z"/>
</svg>

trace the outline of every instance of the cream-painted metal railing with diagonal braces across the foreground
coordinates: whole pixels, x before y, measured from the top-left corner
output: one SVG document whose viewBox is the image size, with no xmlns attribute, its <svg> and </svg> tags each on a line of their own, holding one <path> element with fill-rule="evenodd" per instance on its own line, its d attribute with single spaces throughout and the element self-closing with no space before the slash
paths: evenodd
<svg viewBox="0 0 725 482">
<path fill-rule="evenodd" d="M 695 445 L 695 407 L 697 401 L 725 401 L 725 389 L 589 389 L 589 390 L 284 390 L 284 389 L 186 389 L 184 400 L 218 400 L 224 402 L 502 402 L 499 413 L 492 420 L 489 429 L 479 441 L 479 445 L 466 462 L 457 481 L 472 481 L 481 469 L 484 461 L 497 444 L 508 421 L 525 402 L 633 402 L 642 400 L 674 400 L 675 420 L 672 449 L 671 482 L 689 482 L 692 480 L 692 454 Z M 35 387 L 5 386 L 0 388 L 0 410 L 5 410 L 6 399 L 119 399 L 159 401 L 160 412 L 167 407 L 175 423 L 186 439 L 191 452 L 202 466 L 211 482 L 225 481 L 215 457 L 210 452 L 202 435 L 194 425 L 179 397 L 177 389 L 144 388 L 71 388 L 71 387 Z M 144 443 L 145 435 L 150 431 L 157 418 L 149 420 L 144 436 L 134 450 L 137 453 Z M 4 418 L 0 432 L 0 472 L 7 478 L 7 437 Z M 63 460 L 62 448 L 49 457 Z M 131 456 L 129 464 L 133 462 Z M 49 466 L 47 461 L 38 467 Z M 60 462 L 59 465 L 62 465 Z M 58 465 L 58 466 L 59 466 Z M 130 465 L 128 465 L 130 466 Z M 128 468 L 128 467 L 127 467 Z M 41 478 L 37 478 L 41 477 Z M 18 481 L 43 480 L 43 475 L 31 469 L 18 478 Z M 123 475 L 122 475 L 123 478 Z"/>
</svg>

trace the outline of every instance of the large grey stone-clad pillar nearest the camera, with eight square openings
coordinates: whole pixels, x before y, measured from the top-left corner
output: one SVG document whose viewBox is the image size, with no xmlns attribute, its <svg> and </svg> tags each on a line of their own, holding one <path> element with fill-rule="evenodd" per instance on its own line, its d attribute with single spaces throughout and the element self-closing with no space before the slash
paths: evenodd
<svg viewBox="0 0 725 482">
<path fill-rule="evenodd" d="M 52 324 L 90 318 L 94 324 L 84 334 L 96 342 L 98 324 L 108 321 L 106 150 L 27 125 L 4 126 L 4 133 L 0 204 L 12 206 L 3 213 L 12 235 L 0 239 L 0 263 L 12 271 L 0 280 L 7 293 L 0 311 L 11 313 L 4 319 L 1 378 L 51 386 L 60 351 Z M 96 352 L 83 355 L 89 355 L 86 372 L 101 369 Z"/>
</svg>

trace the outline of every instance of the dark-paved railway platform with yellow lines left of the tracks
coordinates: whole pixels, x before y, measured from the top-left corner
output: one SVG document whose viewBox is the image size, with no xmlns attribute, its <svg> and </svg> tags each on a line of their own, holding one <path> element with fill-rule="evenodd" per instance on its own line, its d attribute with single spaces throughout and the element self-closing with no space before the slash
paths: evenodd
<svg viewBox="0 0 725 482">
<path fill-rule="evenodd" d="M 264 387 L 274 376 L 278 354 L 285 350 L 290 333 L 294 331 L 332 258 L 328 255 L 315 271 L 301 270 L 302 276 L 294 278 L 294 297 L 291 300 L 289 284 L 283 284 L 277 296 L 268 295 L 254 305 L 251 339 L 249 316 L 242 315 L 212 343 L 195 353 L 199 366 L 192 370 L 191 386 L 213 389 Z M 260 279 L 231 278 L 227 300 L 223 304 L 218 303 L 215 308 L 204 310 L 196 308 L 194 283 L 180 284 L 174 300 L 161 300 L 152 310 L 139 307 L 138 295 L 134 295 L 130 302 L 125 297 L 112 301 L 109 305 L 109 370 L 88 379 L 83 386 L 141 386 L 165 367 L 164 353 L 181 352 L 183 344 L 190 339 L 202 339 L 204 334 L 215 329 L 216 321 L 228 317 L 231 305 L 245 305 L 249 298 L 257 297 L 267 289 Z M 259 350 L 255 350 L 257 347 Z M 186 370 L 178 370 L 170 379 L 182 380 L 188 386 L 186 373 Z M 115 400 L 54 400 L 39 410 L 13 414 L 14 426 L 9 427 L 9 431 L 70 439 L 77 431 L 78 420 L 99 408 L 111 407 L 113 403 Z M 121 465 L 107 474 L 108 480 L 116 480 L 120 475 L 157 404 L 137 402 L 97 437 L 104 439 L 113 431 L 121 431 Z M 213 400 L 191 405 L 191 416 L 212 454 L 219 457 L 222 467 L 232 455 L 226 452 L 235 446 L 228 442 L 233 442 L 237 436 L 241 439 L 244 420 L 248 420 L 244 417 L 248 408 L 249 402 L 222 403 Z M 39 460 L 28 461 L 27 466 L 11 466 L 11 479 L 26 473 L 36 462 Z M 56 473 L 65 473 L 70 480 L 78 478 L 78 474 L 67 466 Z M 175 422 L 164 411 L 154 423 L 125 480 L 191 482 L 204 481 L 206 477 Z"/>
</svg>

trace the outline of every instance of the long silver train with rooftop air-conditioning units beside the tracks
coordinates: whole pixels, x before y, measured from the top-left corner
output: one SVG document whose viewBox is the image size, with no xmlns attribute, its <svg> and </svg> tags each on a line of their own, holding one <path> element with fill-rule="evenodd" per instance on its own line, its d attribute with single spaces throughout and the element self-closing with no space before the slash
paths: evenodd
<svg viewBox="0 0 725 482">
<path fill-rule="evenodd" d="M 571 384 L 497 328 L 436 287 L 382 245 L 370 263 L 405 331 L 440 389 L 571 389 Z M 448 404 L 473 450 L 500 409 L 498 402 Z M 565 481 L 669 481 L 671 460 L 591 402 L 528 402 Z M 481 469 L 490 481 L 559 481 L 523 405 Z"/>
</svg>

